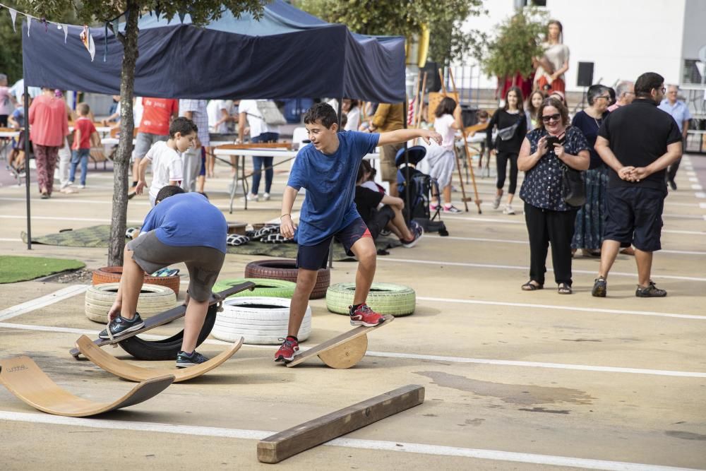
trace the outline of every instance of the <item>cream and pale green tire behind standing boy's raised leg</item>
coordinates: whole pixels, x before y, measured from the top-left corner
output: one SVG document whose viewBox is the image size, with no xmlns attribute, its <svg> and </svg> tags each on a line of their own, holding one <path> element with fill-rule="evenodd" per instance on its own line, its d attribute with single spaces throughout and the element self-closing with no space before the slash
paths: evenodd
<svg viewBox="0 0 706 471">
<path fill-rule="evenodd" d="M 326 291 L 326 308 L 335 314 L 349 314 L 353 304 L 355 283 L 336 283 Z M 412 288 L 393 283 L 376 283 L 370 287 L 366 303 L 383 316 L 409 316 L 414 313 L 417 296 Z"/>
</svg>

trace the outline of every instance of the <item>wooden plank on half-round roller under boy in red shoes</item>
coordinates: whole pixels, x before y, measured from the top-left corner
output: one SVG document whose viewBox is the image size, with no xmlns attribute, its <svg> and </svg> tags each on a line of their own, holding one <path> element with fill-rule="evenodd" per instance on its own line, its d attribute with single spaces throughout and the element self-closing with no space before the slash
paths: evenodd
<svg viewBox="0 0 706 471">
<path fill-rule="evenodd" d="M 294 359 L 287 363 L 289 366 L 297 366 L 311 357 L 318 355 L 321 361 L 336 369 L 350 368 L 357 364 L 368 350 L 368 336 L 366 335 L 371 330 L 387 326 L 395 318 L 393 316 L 385 316 L 385 322 L 378 324 L 375 327 L 359 326 L 351 329 L 346 333 L 337 335 L 336 337 L 326 340 L 325 342 L 316 345 L 298 354 Z"/>
</svg>

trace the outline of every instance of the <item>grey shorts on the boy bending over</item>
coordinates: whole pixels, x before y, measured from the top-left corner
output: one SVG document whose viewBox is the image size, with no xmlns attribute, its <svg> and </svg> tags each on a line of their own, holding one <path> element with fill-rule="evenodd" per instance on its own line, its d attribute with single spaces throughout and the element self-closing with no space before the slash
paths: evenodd
<svg viewBox="0 0 706 471">
<path fill-rule="evenodd" d="M 213 247 L 163 244 L 157 239 L 155 231 L 131 240 L 126 249 L 133 251 L 133 260 L 147 273 L 173 263 L 186 263 L 189 269 L 189 297 L 198 302 L 210 298 L 211 288 L 225 261 L 225 254 Z"/>
</svg>

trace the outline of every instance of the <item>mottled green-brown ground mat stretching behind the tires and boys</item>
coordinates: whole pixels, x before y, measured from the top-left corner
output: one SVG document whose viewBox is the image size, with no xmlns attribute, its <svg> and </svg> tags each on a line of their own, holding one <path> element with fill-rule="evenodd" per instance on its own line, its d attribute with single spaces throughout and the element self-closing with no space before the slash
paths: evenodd
<svg viewBox="0 0 706 471">
<path fill-rule="evenodd" d="M 23 242 L 27 243 L 27 234 L 20 234 Z M 82 229 L 64 229 L 56 234 L 32 237 L 32 244 L 59 245 L 68 247 L 107 247 L 110 240 L 110 226 L 92 226 Z M 400 246 L 397 237 L 378 237 L 375 242 L 378 250 L 391 249 Z M 264 244 L 263 242 L 250 241 L 241 246 L 228 246 L 229 254 L 240 255 L 265 255 L 280 258 L 297 258 L 297 244 Z M 333 260 L 352 260 L 347 256 L 341 244 L 333 244 Z"/>
</svg>

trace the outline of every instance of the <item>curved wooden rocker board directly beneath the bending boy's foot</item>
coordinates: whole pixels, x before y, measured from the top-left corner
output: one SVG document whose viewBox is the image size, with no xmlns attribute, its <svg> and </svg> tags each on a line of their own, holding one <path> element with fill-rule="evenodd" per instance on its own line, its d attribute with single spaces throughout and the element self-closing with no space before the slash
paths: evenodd
<svg viewBox="0 0 706 471">
<path fill-rule="evenodd" d="M 197 366 L 189 366 L 189 368 L 178 368 L 174 370 L 143 368 L 142 366 L 137 366 L 125 362 L 124 360 L 119 360 L 112 354 L 105 352 L 100 347 L 95 345 L 95 343 L 93 343 L 92 340 L 85 335 L 81 335 L 80 338 L 76 340 L 76 348 L 83 353 L 84 357 L 90 359 L 91 362 L 95 363 L 97 366 L 100 366 L 105 371 L 109 371 L 115 376 L 120 376 L 121 378 L 128 379 L 130 381 L 147 381 L 155 376 L 172 375 L 174 376 L 174 383 L 179 383 L 181 381 L 196 378 L 196 376 L 201 376 L 217 366 L 220 366 L 227 359 L 232 357 L 235 352 L 240 350 L 244 340 L 245 339 L 241 337 L 240 342 L 234 343 L 231 347 L 208 360 L 208 362 Z"/>
</svg>

